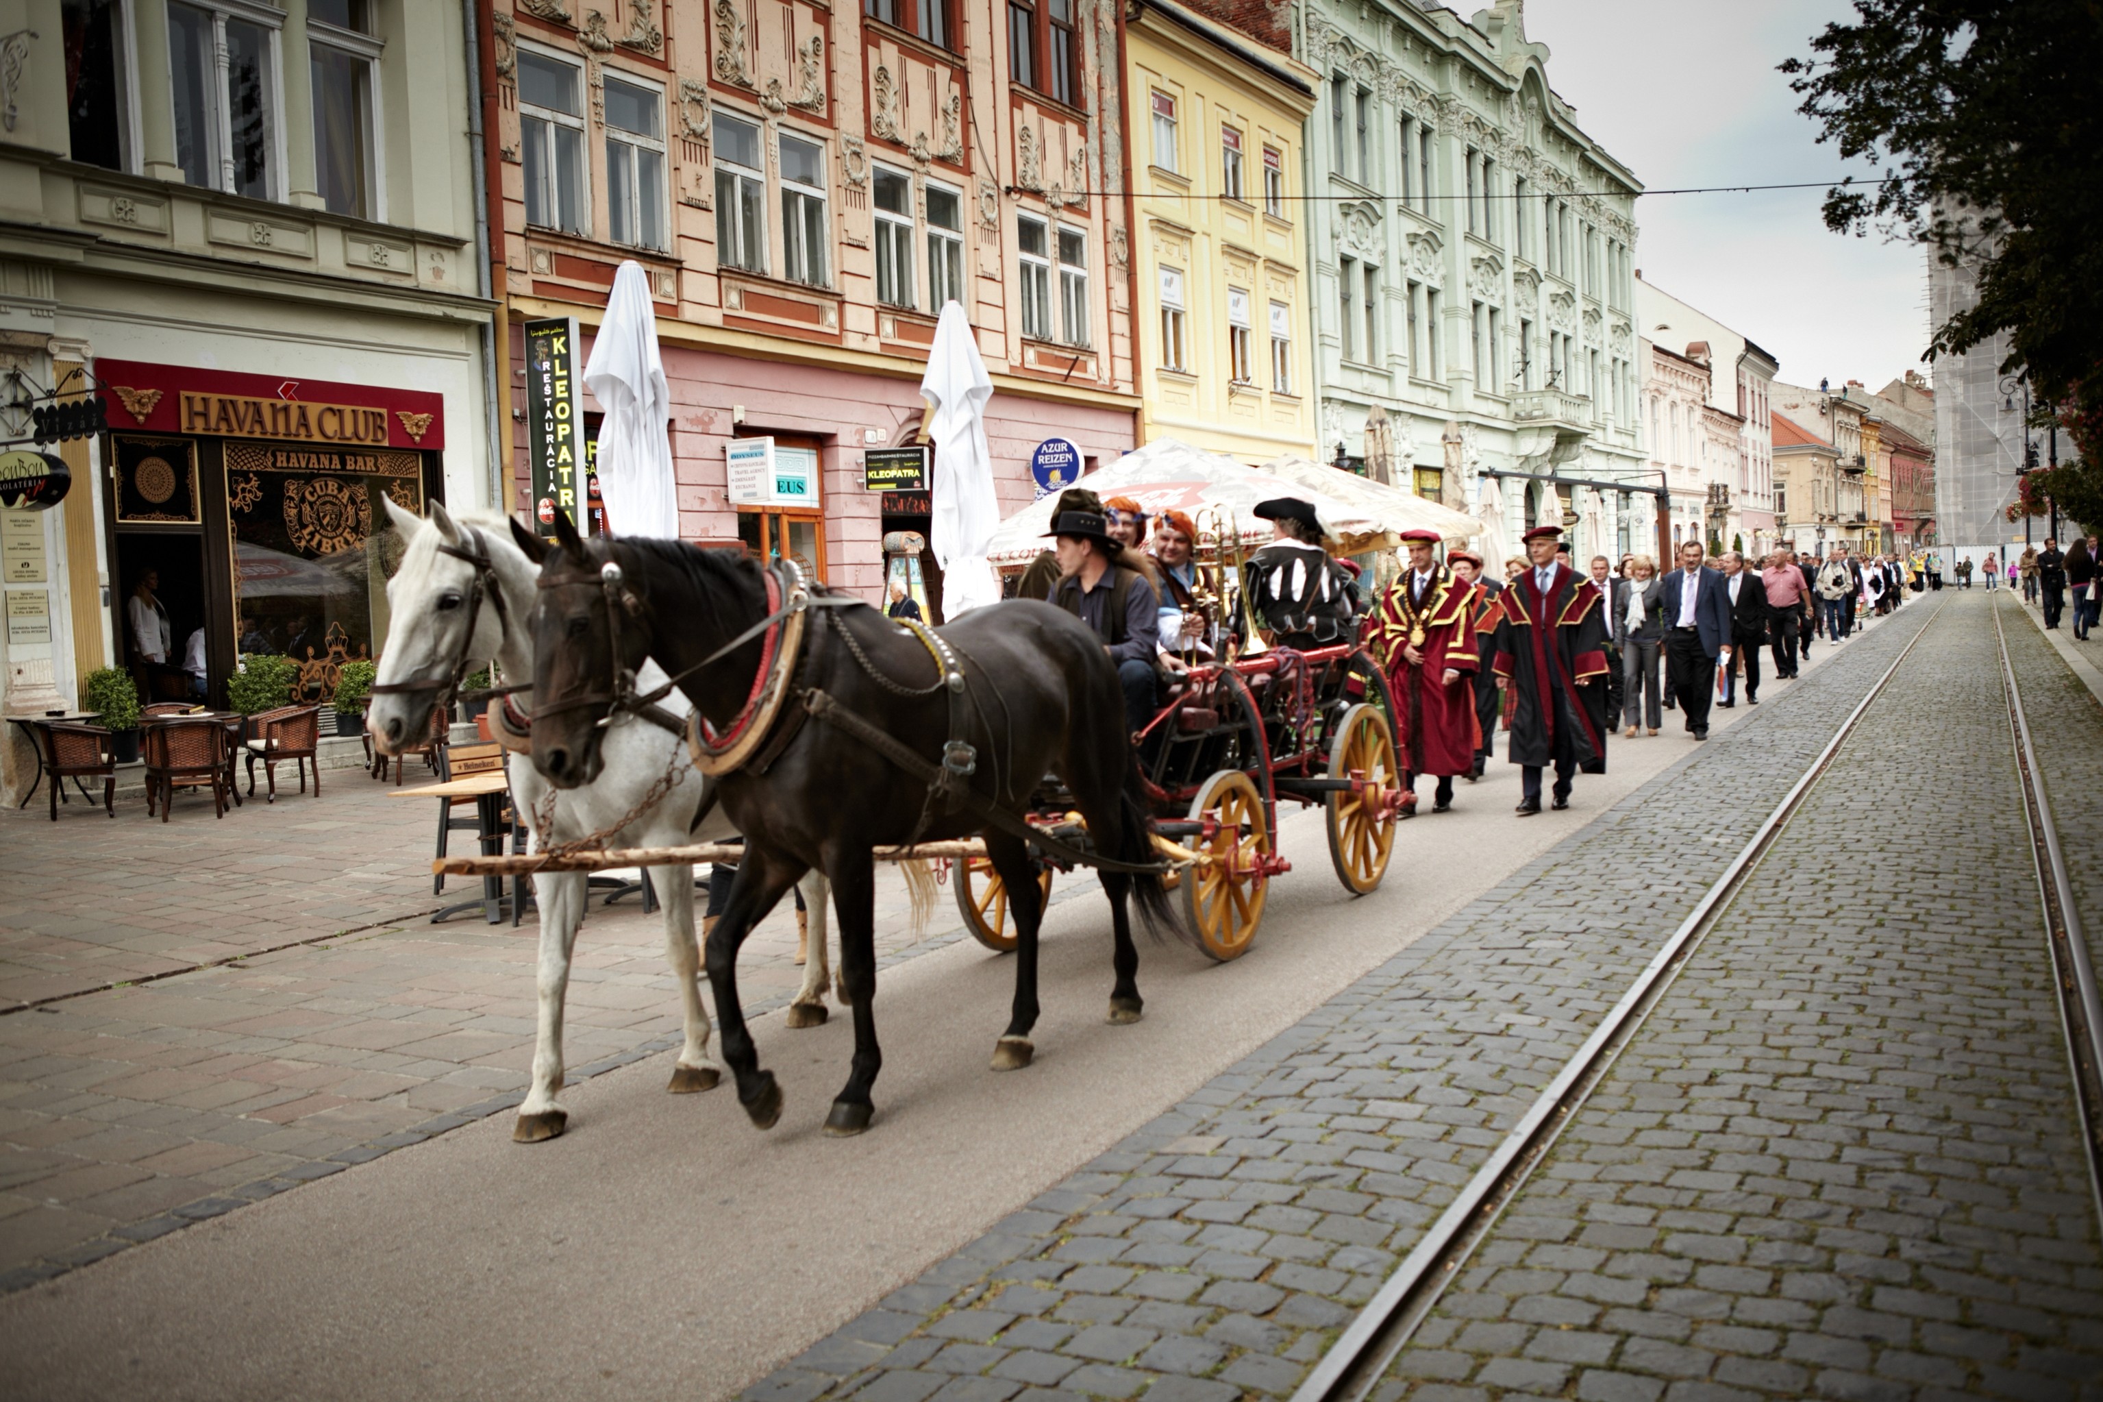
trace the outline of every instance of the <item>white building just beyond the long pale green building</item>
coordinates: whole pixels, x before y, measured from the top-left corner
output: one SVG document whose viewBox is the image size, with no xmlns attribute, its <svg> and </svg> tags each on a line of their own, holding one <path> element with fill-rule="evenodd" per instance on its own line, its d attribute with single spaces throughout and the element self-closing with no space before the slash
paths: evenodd
<svg viewBox="0 0 2103 1402">
<path fill-rule="evenodd" d="M 1636 274 L 1636 322 L 1651 341 L 1710 366 L 1708 408 L 1718 417 L 1718 432 L 1731 423 L 1737 434 L 1737 442 L 1710 463 L 1708 484 L 1718 499 L 1706 509 L 1722 512 L 1720 543 L 1731 545 L 1733 539 L 1743 539 L 1748 552 L 1773 549 L 1777 518 L 1771 415 L 1775 373 L 1781 364 L 1741 333 L 1642 278 L 1640 269 Z M 1651 419 L 1649 406 L 1645 406 L 1645 419 Z"/>
</svg>

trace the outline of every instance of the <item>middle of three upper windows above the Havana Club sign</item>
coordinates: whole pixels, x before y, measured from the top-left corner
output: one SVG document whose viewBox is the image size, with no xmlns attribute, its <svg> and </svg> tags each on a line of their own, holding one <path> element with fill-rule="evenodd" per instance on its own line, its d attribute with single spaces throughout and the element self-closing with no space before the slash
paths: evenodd
<svg viewBox="0 0 2103 1402">
<path fill-rule="evenodd" d="M 191 185 L 278 200 L 278 27 L 248 15 L 170 0 L 175 162 Z"/>
</svg>

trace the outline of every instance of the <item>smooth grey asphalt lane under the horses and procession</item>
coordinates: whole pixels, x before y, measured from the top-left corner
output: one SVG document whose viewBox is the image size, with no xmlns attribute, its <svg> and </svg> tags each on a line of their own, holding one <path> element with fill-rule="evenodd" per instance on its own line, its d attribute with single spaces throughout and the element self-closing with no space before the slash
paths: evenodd
<svg viewBox="0 0 2103 1402">
<path fill-rule="evenodd" d="M 1255 949 L 1216 966 L 1142 939 L 1131 1027 L 1102 1019 L 1102 903 L 1054 905 L 1024 1071 L 986 1065 L 1007 960 L 961 943 L 885 970 L 860 1139 L 820 1135 L 848 1021 L 774 1015 L 755 1036 L 787 1111 L 765 1135 L 728 1086 L 667 1097 L 656 1057 L 572 1086 L 557 1141 L 513 1145 L 498 1116 L 6 1297 L 0 1368 L 23 1398 L 730 1396 L 1691 756 L 1666 720 L 1615 741 L 1569 813 L 1514 819 L 1499 762 L 1455 813 L 1403 825 L 1365 899 L 1338 886 L 1319 813 L 1289 817 L 1295 872 Z"/>
</svg>

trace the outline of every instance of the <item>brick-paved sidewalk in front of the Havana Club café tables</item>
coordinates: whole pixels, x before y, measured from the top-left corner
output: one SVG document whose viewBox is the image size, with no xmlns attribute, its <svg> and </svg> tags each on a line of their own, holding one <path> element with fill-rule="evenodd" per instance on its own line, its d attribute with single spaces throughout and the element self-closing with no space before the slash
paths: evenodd
<svg viewBox="0 0 2103 1402">
<path fill-rule="evenodd" d="M 524 1095 L 534 914 L 519 928 L 425 922 L 473 895 L 452 878 L 431 897 L 429 808 L 360 770 L 324 781 L 320 802 L 294 792 L 217 821 L 183 806 L 168 825 L 143 808 L 88 819 L 78 804 L 59 823 L 34 808 L 0 819 L 0 996 L 13 1002 L 0 1013 L 0 1293 Z M 887 960 L 961 939 L 955 926 L 942 905 L 915 937 L 904 884 L 883 874 Z M 677 1046 L 662 928 L 635 897 L 593 897 L 570 975 L 570 1082 Z M 749 1008 L 789 1002 L 793 954 L 784 905 L 740 956 Z M 189 973 L 154 977 L 170 968 Z M 67 996 L 109 981 L 122 985 Z"/>
</svg>

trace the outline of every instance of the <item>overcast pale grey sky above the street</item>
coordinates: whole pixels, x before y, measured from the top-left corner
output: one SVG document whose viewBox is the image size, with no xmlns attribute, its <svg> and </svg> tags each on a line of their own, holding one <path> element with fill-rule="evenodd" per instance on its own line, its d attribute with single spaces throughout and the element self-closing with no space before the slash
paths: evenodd
<svg viewBox="0 0 2103 1402">
<path fill-rule="evenodd" d="M 1552 51 L 1550 86 L 1647 189 L 1842 173 L 1775 65 L 1853 15 L 1846 0 L 1527 0 L 1525 13 L 1527 38 Z M 1924 255 L 1878 234 L 1830 234 L 1823 194 L 1645 196 L 1636 265 L 1758 341 L 1790 383 L 1878 389 L 1907 366 L 1931 373 Z"/>
</svg>

